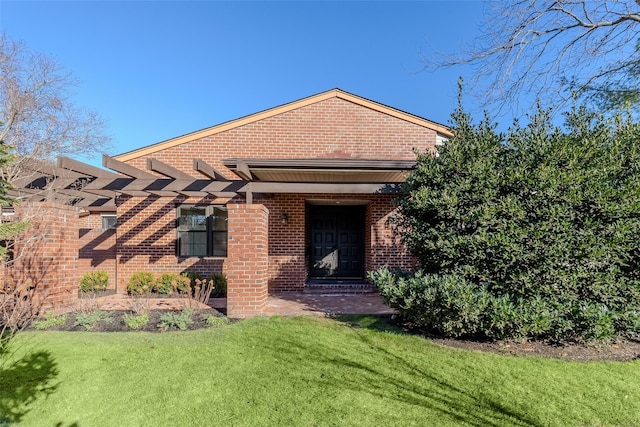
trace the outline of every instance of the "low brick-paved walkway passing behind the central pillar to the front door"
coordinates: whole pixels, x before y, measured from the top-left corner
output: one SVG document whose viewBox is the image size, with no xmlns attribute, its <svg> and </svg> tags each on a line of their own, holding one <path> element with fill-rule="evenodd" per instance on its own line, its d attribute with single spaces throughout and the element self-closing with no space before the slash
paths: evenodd
<svg viewBox="0 0 640 427">
<path fill-rule="evenodd" d="M 131 298 L 126 295 L 108 295 L 95 299 L 80 299 L 79 304 L 96 305 L 102 310 L 131 310 L 132 304 L 143 304 L 148 309 L 182 310 L 207 308 L 186 298 Z M 195 305 L 195 306 L 194 306 Z M 208 307 L 226 309 L 226 298 L 212 298 Z M 302 292 L 271 294 L 264 314 L 267 316 L 325 316 L 327 314 L 392 314 L 378 294 L 316 295 Z"/>
</svg>

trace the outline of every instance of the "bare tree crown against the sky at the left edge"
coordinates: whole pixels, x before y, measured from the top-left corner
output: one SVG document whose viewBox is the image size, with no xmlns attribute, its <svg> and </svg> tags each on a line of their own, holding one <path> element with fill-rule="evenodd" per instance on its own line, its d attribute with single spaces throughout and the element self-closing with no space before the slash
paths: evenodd
<svg viewBox="0 0 640 427">
<path fill-rule="evenodd" d="M 93 155 L 109 138 L 102 119 L 71 99 L 76 79 L 50 56 L 0 34 L 0 141 L 15 161 L 0 170 L 12 182 L 33 160 L 58 155 Z"/>
</svg>

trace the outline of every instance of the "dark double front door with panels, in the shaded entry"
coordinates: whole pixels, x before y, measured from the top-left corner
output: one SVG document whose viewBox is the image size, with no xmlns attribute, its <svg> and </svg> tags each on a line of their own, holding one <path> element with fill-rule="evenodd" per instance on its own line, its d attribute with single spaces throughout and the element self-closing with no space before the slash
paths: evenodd
<svg viewBox="0 0 640 427">
<path fill-rule="evenodd" d="M 309 206 L 312 278 L 364 277 L 364 206 Z"/>
</svg>

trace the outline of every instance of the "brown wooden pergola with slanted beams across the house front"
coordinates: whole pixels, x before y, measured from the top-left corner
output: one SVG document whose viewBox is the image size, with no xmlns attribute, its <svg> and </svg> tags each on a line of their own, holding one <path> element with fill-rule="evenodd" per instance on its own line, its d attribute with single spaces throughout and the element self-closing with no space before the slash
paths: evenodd
<svg viewBox="0 0 640 427">
<path fill-rule="evenodd" d="M 57 165 L 33 162 L 32 172 L 15 180 L 11 197 L 56 200 L 88 211 L 115 211 L 115 197 L 244 197 L 273 193 L 396 193 L 414 161 L 363 159 L 227 159 L 238 179 L 230 180 L 206 161 L 193 159 L 192 176 L 157 159 L 142 170 L 104 155 L 98 168 L 68 157 Z M 155 172 L 161 175 L 159 177 Z M 197 177 L 196 177 L 197 176 Z"/>
</svg>

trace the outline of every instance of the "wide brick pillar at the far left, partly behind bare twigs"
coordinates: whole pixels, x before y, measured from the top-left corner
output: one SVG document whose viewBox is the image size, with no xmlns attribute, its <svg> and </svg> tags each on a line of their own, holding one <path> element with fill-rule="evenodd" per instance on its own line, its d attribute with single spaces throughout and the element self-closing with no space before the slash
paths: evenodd
<svg viewBox="0 0 640 427">
<path fill-rule="evenodd" d="M 10 275 L 33 289 L 36 310 L 61 313 L 78 299 L 78 210 L 43 202 L 15 206 L 16 219 L 31 226 L 15 239 Z"/>
</svg>

